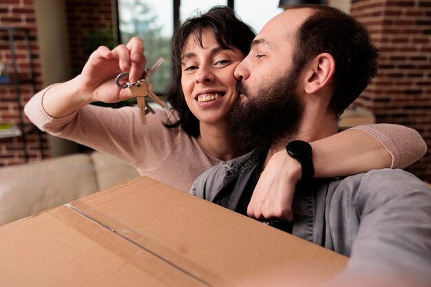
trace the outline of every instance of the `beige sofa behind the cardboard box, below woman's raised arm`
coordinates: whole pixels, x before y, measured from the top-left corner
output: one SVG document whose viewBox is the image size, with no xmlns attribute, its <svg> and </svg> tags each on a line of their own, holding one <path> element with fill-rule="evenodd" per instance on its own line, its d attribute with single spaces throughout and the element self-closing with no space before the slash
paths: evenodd
<svg viewBox="0 0 431 287">
<path fill-rule="evenodd" d="M 138 177 L 99 151 L 0 168 L 0 226 Z"/>
</svg>

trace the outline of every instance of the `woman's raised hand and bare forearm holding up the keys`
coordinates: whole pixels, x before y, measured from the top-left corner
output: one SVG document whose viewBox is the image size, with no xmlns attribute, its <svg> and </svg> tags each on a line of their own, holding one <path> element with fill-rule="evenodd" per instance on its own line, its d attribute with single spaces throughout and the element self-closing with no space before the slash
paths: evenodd
<svg viewBox="0 0 431 287">
<path fill-rule="evenodd" d="M 138 37 L 114 50 L 98 47 L 80 75 L 52 85 L 44 93 L 43 109 L 54 118 L 72 114 L 92 102 L 117 103 L 132 97 L 130 89 L 117 87 L 116 76 L 129 73 L 129 81 L 138 81 L 145 70 L 144 43 Z"/>
</svg>

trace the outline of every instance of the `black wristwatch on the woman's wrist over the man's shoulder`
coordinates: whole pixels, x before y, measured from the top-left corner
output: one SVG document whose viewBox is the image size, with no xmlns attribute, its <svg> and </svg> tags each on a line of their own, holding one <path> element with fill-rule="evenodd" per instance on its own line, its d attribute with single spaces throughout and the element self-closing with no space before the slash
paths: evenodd
<svg viewBox="0 0 431 287">
<path fill-rule="evenodd" d="M 314 176 L 313 154 L 311 145 L 304 140 L 292 140 L 286 145 L 289 156 L 295 158 L 302 167 L 302 180 L 309 180 Z"/>
</svg>

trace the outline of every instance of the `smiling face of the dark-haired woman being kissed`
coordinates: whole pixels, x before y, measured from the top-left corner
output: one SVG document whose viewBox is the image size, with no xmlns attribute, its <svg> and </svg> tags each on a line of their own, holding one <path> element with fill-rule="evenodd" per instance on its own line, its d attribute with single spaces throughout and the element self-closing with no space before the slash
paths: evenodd
<svg viewBox="0 0 431 287">
<path fill-rule="evenodd" d="M 224 123 L 238 100 L 235 67 L 244 59 L 237 48 L 226 49 L 209 29 L 202 31 L 202 46 L 190 34 L 181 54 L 181 86 L 190 111 L 205 124 Z"/>
</svg>

